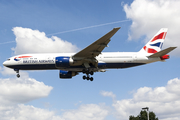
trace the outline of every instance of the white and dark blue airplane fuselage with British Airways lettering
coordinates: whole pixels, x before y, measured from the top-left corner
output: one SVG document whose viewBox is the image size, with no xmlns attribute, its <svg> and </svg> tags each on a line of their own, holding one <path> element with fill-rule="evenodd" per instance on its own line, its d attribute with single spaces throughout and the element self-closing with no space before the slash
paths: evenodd
<svg viewBox="0 0 180 120">
<path fill-rule="evenodd" d="M 57 57 L 71 58 L 74 54 L 75 53 L 23 54 L 9 58 L 3 65 L 18 70 L 61 69 L 67 71 L 82 71 L 82 69 L 85 68 L 83 65 L 69 65 L 69 67 L 66 68 L 56 66 Z M 98 69 L 128 68 L 161 61 L 159 57 L 148 58 L 138 52 L 102 52 L 96 59 L 98 61 Z"/>
</svg>

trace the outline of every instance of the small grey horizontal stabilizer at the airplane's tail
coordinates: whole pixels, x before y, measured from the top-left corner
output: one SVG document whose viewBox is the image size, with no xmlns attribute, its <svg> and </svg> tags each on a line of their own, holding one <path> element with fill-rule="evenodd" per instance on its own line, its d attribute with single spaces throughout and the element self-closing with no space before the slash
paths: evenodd
<svg viewBox="0 0 180 120">
<path fill-rule="evenodd" d="M 174 50 L 175 48 L 177 48 L 177 47 L 169 47 L 167 49 L 161 50 L 160 52 L 150 55 L 149 58 L 162 57 L 162 56 L 166 55 L 167 53 L 171 52 L 172 50 Z"/>
</svg>

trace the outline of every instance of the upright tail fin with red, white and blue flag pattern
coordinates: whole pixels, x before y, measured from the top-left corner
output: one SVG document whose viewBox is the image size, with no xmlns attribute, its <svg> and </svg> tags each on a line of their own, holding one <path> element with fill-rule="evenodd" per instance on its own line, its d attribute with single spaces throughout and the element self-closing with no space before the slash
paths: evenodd
<svg viewBox="0 0 180 120">
<path fill-rule="evenodd" d="M 161 28 L 159 32 L 139 51 L 139 53 L 150 56 L 161 51 L 167 30 L 167 28 Z"/>
</svg>

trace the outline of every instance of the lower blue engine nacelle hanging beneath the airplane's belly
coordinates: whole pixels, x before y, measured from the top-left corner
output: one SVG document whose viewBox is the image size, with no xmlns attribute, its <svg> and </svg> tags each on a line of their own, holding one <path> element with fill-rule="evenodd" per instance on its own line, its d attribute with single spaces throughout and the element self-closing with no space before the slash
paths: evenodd
<svg viewBox="0 0 180 120">
<path fill-rule="evenodd" d="M 64 70 L 59 71 L 59 78 L 68 79 L 68 78 L 72 78 L 75 75 L 77 75 L 77 72 L 64 71 Z"/>
</svg>

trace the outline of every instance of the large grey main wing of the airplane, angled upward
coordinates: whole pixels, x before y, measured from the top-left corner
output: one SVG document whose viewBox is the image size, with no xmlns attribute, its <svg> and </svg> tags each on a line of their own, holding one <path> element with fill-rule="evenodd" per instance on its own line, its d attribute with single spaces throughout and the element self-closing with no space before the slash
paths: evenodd
<svg viewBox="0 0 180 120">
<path fill-rule="evenodd" d="M 100 39 L 96 40 L 94 43 L 91 45 L 87 46 L 83 50 L 79 51 L 75 55 L 73 55 L 74 59 L 88 59 L 88 58 L 95 58 L 101 52 L 105 47 L 107 47 L 107 44 L 110 42 L 110 38 L 120 29 L 114 28 L 110 32 L 108 32 L 106 35 L 101 37 Z"/>
</svg>

